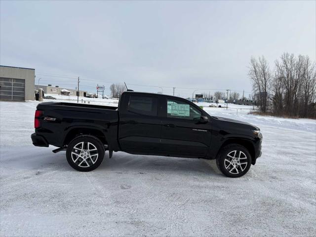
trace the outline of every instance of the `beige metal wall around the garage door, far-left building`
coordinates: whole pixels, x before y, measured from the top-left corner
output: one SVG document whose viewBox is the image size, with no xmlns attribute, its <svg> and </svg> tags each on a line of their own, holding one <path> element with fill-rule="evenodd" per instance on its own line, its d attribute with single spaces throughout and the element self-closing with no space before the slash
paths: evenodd
<svg viewBox="0 0 316 237">
<path fill-rule="evenodd" d="M 1 78 L 24 79 L 25 100 L 34 100 L 35 69 L 0 66 Z"/>
</svg>

